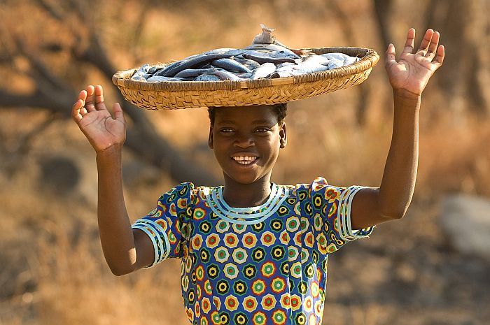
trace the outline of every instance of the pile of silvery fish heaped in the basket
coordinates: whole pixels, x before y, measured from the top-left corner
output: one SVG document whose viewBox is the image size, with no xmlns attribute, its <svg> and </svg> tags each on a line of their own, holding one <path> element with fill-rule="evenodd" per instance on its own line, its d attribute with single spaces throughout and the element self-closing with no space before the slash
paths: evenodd
<svg viewBox="0 0 490 325">
<path fill-rule="evenodd" d="M 344 53 L 316 55 L 309 50 L 292 50 L 276 41 L 272 31 L 261 24 L 262 34 L 243 49 L 218 48 L 191 55 L 168 66 L 144 64 L 131 77 L 145 82 L 219 81 L 282 78 L 331 70 L 353 64 L 358 57 Z"/>
</svg>

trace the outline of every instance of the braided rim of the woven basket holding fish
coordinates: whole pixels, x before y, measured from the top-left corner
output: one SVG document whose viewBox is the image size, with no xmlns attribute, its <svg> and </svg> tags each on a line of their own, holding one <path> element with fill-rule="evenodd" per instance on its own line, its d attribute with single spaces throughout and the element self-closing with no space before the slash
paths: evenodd
<svg viewBox="0 0 490 325">
<path fill-rule="evenodd" d="M 293 77 L 283 78 L 260 78 L 257 80 L 219 80 L 219 81 L 162 81 L 162 82 L 144 82 L 131 80 L 131 76 L 137 71 L 137 68 L 130 68 L 114 73 L 112 77 L 113 84 L 118 87 L 127 89 L 151 91 L 151 92 L 181 92 L 181 91 L 204 91 L 204 90 L 233 90 L 233 89 L 253 89 L 260 87 L 273 87 L 276 85 L 300 84 L 304 82 L 314 82 L 318 80 L 337 80 L 349 75 L 361 73 L 372 68 L 379 61 L 379 55 L 370 48 L 353 48 L 353 47 L 330 47 L 330 48 L 302 48 L 300 50 L 311 50 L 315 54 L 325 54 L 332 52 L 341 52 L 346 55 L 360 57 L 358 62 L 334 68 L 332 70 L 319 71 L 314 73 L 305 73 Z M 361 56 L 360 56 L 361 55 Z M 174 61 L 151 64 L 151 66 L 167 66 Z"/>
</svg>

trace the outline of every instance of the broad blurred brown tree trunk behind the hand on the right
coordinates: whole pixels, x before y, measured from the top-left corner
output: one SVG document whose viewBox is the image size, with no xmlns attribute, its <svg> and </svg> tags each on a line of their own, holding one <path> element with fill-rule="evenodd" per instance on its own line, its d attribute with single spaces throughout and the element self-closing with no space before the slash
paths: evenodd
<svg viewBox="0 0 490 325">
<path fill-rule="evenodd" d="M 440 31 L 446 47 L 440 87 L 449 110 L 490 113 L 490 3 L 487 0 L 433 0 L 426 26 Z"/>
</svg>

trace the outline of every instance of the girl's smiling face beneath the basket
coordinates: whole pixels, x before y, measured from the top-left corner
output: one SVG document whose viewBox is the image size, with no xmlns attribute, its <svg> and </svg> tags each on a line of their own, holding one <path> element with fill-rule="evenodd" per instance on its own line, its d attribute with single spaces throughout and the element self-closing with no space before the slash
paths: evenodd
<svg viewBox="0 0 490 325">
<path fill-rule="evenodd" d="M 216 108 L 209 147 L 225 179 L 251 184 L 267 176 L 286 146 L 286 124 L 271 106 Z"/>
</svg>

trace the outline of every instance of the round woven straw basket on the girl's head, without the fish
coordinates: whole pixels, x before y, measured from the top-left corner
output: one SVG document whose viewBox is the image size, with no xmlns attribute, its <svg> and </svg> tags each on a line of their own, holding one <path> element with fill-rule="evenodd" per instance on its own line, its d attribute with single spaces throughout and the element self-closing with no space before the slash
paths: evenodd
<svg viewBox="0 0 490 325">
<path fill-rule="evenodd" d="M 287 78 L 243 81 L 167 81 L 131 80 L 136 71 L 118 71 L 112 77 L 127 101 L 150 110 L 172 110 L 203 106 L 249 106 L 286 103 L 359 85 L 367 79 L 379 60 L 367 48 L 310 48 L 317 55 L 342 52 L 360 61 L 327 71 Z M 172 62 L 161 64 L 167 66 Z"/>
</svg>

